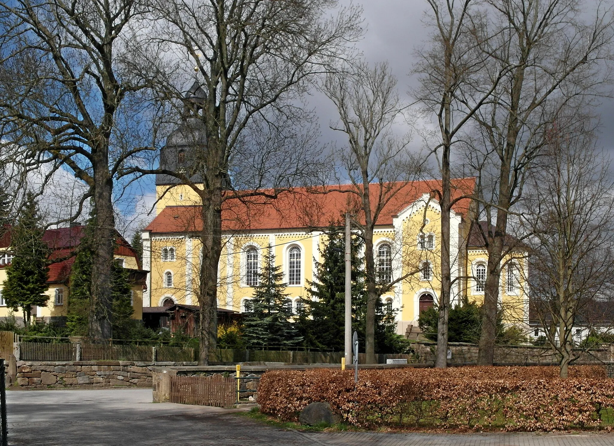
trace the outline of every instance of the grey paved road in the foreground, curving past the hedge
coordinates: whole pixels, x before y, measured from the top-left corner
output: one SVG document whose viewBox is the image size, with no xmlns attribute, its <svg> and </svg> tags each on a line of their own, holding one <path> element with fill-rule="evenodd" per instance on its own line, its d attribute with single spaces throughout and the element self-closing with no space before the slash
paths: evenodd
<svg viewBox="0 0 614 446">
<path fill-rule="evenodd" d="M 605 446 L 612 434 L 371 434 L 283 431 L 225 409 L 152 404 L 151 390 L 10 391 L 10 445 Z"/>
</svg>

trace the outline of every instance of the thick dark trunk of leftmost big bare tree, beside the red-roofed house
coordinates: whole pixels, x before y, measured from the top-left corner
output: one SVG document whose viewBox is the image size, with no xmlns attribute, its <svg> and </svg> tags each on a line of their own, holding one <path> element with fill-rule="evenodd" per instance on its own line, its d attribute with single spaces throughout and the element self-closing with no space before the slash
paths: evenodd
<svg viewBox="0 0 614 446">
<path fill-rule="evenodd" d="M 115 216 L 113 213 L 113 179 L 109 175 L 108 150 L 93 154 L 94 255 L 91 265 L 90 337 L 102 340 L 113 337 L 112 277 L 115 251 Z"/>
</svg>

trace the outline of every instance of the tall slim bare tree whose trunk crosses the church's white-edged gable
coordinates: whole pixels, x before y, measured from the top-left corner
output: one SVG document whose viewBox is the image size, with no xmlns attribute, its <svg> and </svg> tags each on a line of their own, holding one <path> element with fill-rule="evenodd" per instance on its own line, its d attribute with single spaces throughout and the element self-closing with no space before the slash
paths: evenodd
<svg viewBox="0 0 614 446">
<path fill-rule="evenodd" d="M 421 88 L 414 92 L 426 112 L 437 118 L 437 131 L 427 134 L 430 150 L 437 156 L 441 174 L 441 291 L 436 366 L 446 367 L 448 351 L 448 313 L 451 297 L 450 212 L 456 201 L 451 198 L 453 147 L 462 140 L 467 121 L 483 106 L 509 67 L 502 64 L 489 79 L 484 79 L 488 55 L 481 47 L 489 42 L 488 26 L 476 9 L 474 0 L 427 0 L 428 24 L 433 29 L 430 46 L 418 53 L 414 72 Z M 485 88 L 484 88 L 485 87 Z M 471 93 L 471 94 L 469 94 Z M 434 140 L 435 142 L 431 142 Z"/>
</svg>

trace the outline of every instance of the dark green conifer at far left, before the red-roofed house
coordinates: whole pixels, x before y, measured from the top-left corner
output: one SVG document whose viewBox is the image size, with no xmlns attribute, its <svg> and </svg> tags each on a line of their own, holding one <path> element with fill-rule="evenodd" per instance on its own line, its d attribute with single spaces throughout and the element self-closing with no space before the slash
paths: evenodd
<svg viewBox="0 0 614 446">
<path fill-rule="evenodd" d="M 28 192 L 17 223 L 11 230 L 12 263 L 7 267 L 2 296 L 7 307 L 21 307 L 23 323 L 30 325 L 33 306 L 44 307 L 49 296 L 45 291 L 49 272 L 49 247 L 42 241 L 45 233 L 34 194 Z"/>
</svg>

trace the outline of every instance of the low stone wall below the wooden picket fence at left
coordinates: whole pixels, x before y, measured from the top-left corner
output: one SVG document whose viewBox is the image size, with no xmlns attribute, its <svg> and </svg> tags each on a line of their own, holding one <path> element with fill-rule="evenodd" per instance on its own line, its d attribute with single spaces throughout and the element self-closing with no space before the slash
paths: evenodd
<svg viewBox="0 0 614 446">
<path fill-rule="evenodd" d="M 151 387 L 152 368 L 195 363 L 135 361 L 17 361 L 14 384 L 23 389 Z"/>
</svg>

